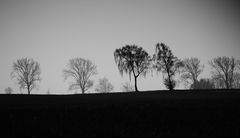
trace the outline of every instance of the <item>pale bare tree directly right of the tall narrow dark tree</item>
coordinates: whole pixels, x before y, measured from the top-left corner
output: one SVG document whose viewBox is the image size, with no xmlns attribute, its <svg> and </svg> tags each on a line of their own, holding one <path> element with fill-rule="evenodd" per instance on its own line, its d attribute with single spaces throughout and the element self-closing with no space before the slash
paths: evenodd
<svg viewBox="0 0 240 138">
<path fill-rule="evenodd" d="M 194 86 L 198 82 L 198 76 L 203 72 L 204 66 L 200 64 L 198 58 L 186 58 L 183 60 L 183 65 L 181 78 L 186 84 Z"/>
</svg>

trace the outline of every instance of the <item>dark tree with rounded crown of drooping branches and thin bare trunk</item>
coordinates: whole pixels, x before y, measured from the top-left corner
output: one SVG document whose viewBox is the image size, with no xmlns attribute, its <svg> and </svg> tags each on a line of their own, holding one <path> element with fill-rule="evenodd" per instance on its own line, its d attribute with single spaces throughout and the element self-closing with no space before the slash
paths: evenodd
<svg viewBox="0 0 240 138">
<path fill-rule="evenodd" d="M 123 73 L 129 74 L 130 80 L 131 75 L 134 76 L 135 91 L 137 92 L 137 78 L 139 75 L 146 76 L 151 57 L 142 47 L 126 45 L 115 50 L 114 59 L 121 75 Z"/>
</svg>

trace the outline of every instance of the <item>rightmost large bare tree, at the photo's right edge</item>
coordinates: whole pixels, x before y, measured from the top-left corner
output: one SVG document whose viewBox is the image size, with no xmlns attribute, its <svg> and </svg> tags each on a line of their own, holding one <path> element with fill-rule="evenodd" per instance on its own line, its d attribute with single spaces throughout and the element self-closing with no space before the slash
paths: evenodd
<svg viewBox="0 0 240 138">
<path fill-rule="evenodd" d="M 223 56 L 212 59 L 209 64 L 214 69 L 212 76 L 221 79 L 224 82 L 224 88 L 233 88 L 234 74 L 238 71 L 239 60 Z"/>
</svg>

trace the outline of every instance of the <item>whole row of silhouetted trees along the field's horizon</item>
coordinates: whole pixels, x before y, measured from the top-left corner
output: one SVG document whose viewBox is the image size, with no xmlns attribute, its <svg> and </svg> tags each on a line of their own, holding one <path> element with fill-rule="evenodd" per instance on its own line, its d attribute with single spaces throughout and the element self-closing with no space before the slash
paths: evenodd
<svg viewBox="0 0 240 138">
<path fill-rule="evenodd" d="M 139 76 L 146 76 L 149 72 L 161 73 L 163 84 L 170 91 L 174 90 L 178 81 L 177 76 L 189 89 L 236 89 L 240 88 L 240 60 L 234 57 L 216 57 L 209 61 L 212 68 L 210 78 L 199 79 L 204 70 L 204 65 L 196 57 L 177 58 L 169 46 L 157 43 L 155 52 L 150 56 L 142 47 L 137 45 L 125 45 L 114 51 L 115 64 L 121 76 L 129 75 L 134 78 L 134 88 L 129 83 L 122 86 L 124 91 L 138 92 L 137 80 Z M 26 89 L 28 94 L 36 88 L 41 81 L 40 64 L 29 58 L 21 58 L 13 63 L 11 77 L 18 82 L 20 89 Z M 97 75 L 96 65 L 84 58 L 73 58 L 63 70 L 64 79 L 72 79 L 69 89 L 80 89 L 84 94 L 94 84 L 92 77 Z M 97 92 L 111 92 L 113 85 L 107 78 L 99 79 L 95 89 Z M 5 89 L 11 93 L 10 87 Z M 49 91 L 48 91 L 49 92 Z"/>
</svg>

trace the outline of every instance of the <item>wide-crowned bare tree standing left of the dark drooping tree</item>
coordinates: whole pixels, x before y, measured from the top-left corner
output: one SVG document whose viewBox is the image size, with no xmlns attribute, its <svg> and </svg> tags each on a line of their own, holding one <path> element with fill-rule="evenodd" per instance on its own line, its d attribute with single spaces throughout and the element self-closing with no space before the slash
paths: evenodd
<svg viewBox="0 0 240 138">
<path fill-rule="evenodd" d="M 90 78 L 97 74 L 97 67 L 90 60 L 74 58 L 69 60 L 68 68 L 63 70 L 63 74 L 65 80 L 69 77 L 74 79 L 69 87 L 70 90 L 80 88 L 84 94 L 93 86 Z"/>
</svg>

